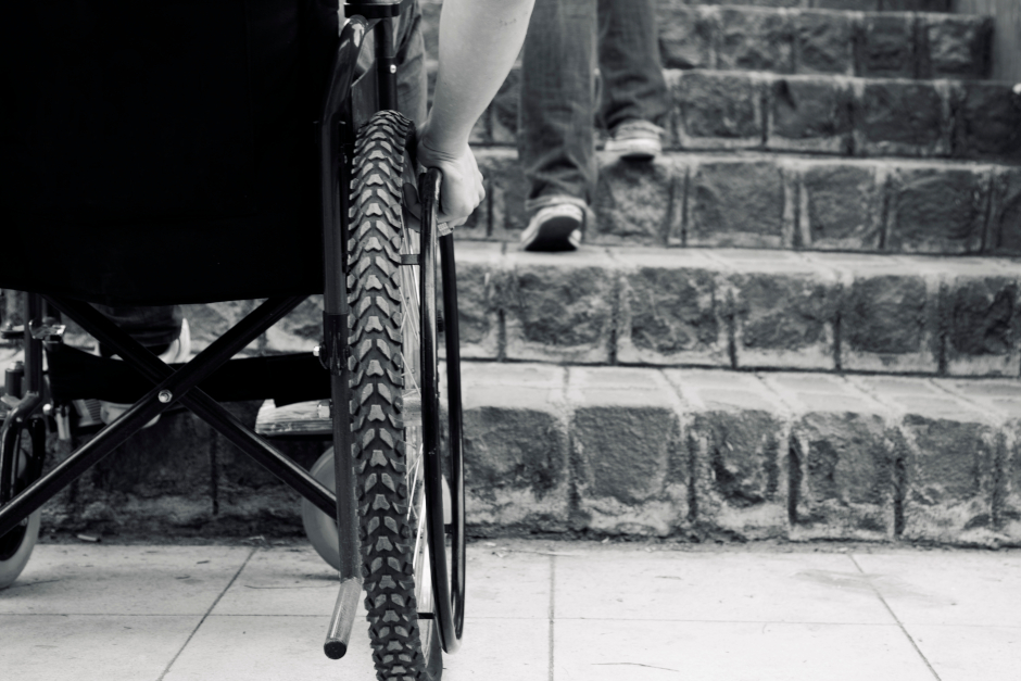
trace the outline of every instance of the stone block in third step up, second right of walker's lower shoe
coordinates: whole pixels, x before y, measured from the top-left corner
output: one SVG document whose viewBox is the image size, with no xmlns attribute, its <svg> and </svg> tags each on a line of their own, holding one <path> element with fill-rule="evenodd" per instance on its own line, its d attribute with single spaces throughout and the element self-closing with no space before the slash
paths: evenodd
<svg viewBox="0 0 1021 681">
<path fill-rule="evenodd" d="M 783 248 L 784 185 L 771 161 L 694 160 L 686 184 L 686 245 Z"/>
</svg>

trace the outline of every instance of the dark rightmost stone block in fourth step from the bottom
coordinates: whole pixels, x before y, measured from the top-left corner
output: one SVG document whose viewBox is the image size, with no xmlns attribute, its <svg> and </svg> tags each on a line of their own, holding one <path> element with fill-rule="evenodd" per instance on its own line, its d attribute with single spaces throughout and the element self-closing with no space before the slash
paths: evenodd
<svg viewBox="0 0 1021 681">
<path fill-rule="evenodd" d="M 1021 162 L 1021 92 L 1009 84 L 963 81 L 953 100 L 955 157 Z"/>
</svg>

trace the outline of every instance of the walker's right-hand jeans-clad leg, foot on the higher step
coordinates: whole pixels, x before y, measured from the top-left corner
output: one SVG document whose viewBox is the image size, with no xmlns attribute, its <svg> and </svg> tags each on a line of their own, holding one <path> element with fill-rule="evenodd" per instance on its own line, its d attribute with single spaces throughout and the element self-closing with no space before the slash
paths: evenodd
<svg viewBox="0 0 1021 681">
<path fill-rule="evenodd" d="M 658 148 L 667 115 L 667 86 L 659 66 L 652 3 L 598 0 L 598 8 L 600 117 L 612 133 L 631 126 L 631 133 L 641 137 L 644 129 L 646 136 L 655 136 Z M 607 149 L 612 147 L 607 142 Z"/>
</svg>

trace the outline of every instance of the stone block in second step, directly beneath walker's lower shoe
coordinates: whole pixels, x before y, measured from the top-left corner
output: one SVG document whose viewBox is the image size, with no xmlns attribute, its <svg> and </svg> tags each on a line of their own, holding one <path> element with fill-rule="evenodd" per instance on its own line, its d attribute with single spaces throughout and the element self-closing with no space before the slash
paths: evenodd
<svg viewBox="0 0 1021 681">
<path fill-rule="evenodd" d="M 507 255 L 501 293 L 508 360 L 604 364 L 618 286 L 605 253 Z"/>
</svg>

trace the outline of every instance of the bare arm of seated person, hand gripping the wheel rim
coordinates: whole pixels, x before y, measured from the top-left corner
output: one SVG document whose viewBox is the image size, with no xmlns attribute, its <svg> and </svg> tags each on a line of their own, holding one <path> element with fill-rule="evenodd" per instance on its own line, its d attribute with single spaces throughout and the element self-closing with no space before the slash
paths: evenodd
<svg viewBox="0 0 1021 681">
<path fill-rule="evenodd" d="M 439 222 L 451 227 L 464 223 L 486 198 L 468 136 L 517 59 L 533 3 L 443 2 L 440 70 L 432 110 L 418 138 L 418 162 L 443 172 Z"/>
</svg>

